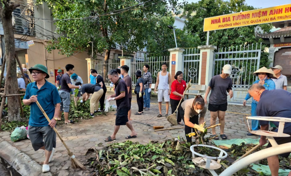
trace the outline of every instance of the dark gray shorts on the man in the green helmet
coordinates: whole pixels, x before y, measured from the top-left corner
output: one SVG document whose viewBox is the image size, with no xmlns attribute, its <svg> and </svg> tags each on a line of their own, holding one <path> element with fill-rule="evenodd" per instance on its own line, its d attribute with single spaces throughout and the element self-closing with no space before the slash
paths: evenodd
<svg viewBox="0 0 291 176">
<path fill-rule="evenodd" d="M 45 146 L 45 150 L 52 151 L 56 145 L 56 134 L 50 126 L 28 125 L 28 135 L 34 151 Z"/>
</svg>

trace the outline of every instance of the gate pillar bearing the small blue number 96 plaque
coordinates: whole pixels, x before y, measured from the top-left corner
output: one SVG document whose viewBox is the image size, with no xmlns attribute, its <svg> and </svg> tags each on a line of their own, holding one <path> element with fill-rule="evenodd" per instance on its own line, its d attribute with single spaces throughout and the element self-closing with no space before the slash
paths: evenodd
<svg viewBox="0 0 291 176">
<path fill-rule="evenodd" d="M 170 65 L 169 72 L 171 73 L 171 82 L 175 80 L 174 76 L 177 71 L 183 72 L 183 48 L 171 48 L 168 49 L 170 52 Z M 183 73 L 185 74 L 185 73 Z"/>
</svg>

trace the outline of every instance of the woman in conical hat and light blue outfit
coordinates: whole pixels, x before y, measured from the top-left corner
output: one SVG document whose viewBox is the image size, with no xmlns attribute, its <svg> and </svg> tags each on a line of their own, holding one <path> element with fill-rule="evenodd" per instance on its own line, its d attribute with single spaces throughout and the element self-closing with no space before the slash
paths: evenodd
<svg viewBox="0 0 291 176">
<path fill-rule="evenodd" d="M 274 78 L 274 72 L 272 70 L 268 70 L 266 67 L 262 67 L 259 70 L 255 71 L 253 73 L 254 76 L 259 77 L 258 80 L 256 80 L 253 84 L 259 83 L 263 85 L 266 90 L 273 90 L 276 88 L 274 81 L 271 78 Z M 251 98 L 251 95 L 248 93 L 246 95 L 246 98 L 243 100 L 243 106 L 246 106 L 246 101 Z M 258 101 L 255 99 L 252 100 L 252 116 L 257 116 L 257 104 Z M 259 129 L 259 120 L 253 120 L 252 119 L 252 130 L 258 130 Z M 251 136 L 254 135 L 253 133 L 248 133 L 247 135 Z"/>
</svg>

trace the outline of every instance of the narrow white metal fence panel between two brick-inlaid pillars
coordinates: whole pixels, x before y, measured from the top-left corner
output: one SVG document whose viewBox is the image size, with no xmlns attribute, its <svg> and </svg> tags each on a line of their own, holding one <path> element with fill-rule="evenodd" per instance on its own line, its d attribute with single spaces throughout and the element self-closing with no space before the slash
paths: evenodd
<svg viewBox="0 0 291 176">
<path fill-rule="evenodd" d="M 198 84 L 200 54 L 198 48 L 186 48 L 183 53 L 183 79 L 188 83 Z"/>
</svg>

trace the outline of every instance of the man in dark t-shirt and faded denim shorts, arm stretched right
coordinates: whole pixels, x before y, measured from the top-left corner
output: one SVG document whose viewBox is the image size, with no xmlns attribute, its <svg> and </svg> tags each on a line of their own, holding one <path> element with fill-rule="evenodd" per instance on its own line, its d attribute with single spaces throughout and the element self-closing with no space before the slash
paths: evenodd
<svg viewBox="0 0 291 176">
<path fill-rule="evenodd" d="M 62 76 L 61 88 L 59 90 L 59 95 L 61 98 L 61 107 L 60 107 L 58 120 L 61 120 L 62 111 L 64 111 L 65 123 L 67 124 L 67 123 L 73 123 L 72 120 L 68 119 L 70 103 L 71 103 L 71 98 L 70 98 L 71 89 L 81 89 L 81 86 L 74 86 L 71 83 L 70 76 L 75 72 L 74 66 L 72 64 L 67 64 L 66 70 L 67 72 Z"/>
</svg>

